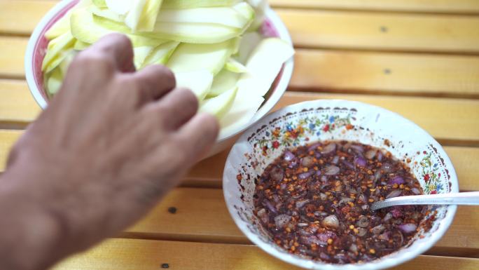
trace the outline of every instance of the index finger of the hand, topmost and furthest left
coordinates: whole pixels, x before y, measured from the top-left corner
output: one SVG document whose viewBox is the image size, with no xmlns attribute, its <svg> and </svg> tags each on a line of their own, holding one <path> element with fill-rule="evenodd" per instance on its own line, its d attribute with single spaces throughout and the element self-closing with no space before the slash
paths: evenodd
<svg viewBox="0 0 479 270">
<path fill-rule="evenodd" d="M 132 42 L 123 34 L 108 34 L 90 48 L 83 50 L 78 58 L 106 60 L 119 72 L 134 72 Z"/>
</svg>

